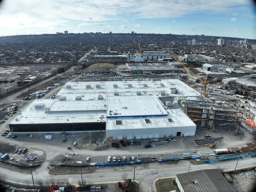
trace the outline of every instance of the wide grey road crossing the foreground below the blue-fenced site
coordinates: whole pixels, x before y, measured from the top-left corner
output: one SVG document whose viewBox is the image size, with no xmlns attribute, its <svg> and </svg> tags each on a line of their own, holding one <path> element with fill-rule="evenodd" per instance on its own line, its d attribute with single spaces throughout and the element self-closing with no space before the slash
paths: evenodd
<svg viewBox="0 0 256 192">
<path fill-rule="evenodd" d="M 233 169 L 236 166 L 237 160 L 229 160 L 223 162 L 214 162 L 208 164 L 192 165 L 190 166 L 190 171 L 200 170 L 200 169 L 212 169 L 212 168 L 223 168 L 224 170 Z M 248 167 L 256 165 L 255 158 L 244 158 L 240 159 L 237 168 Z M 137 165 L 141 166 L 141 165 Z M 163 164 L 157 163 L 154 169 L 148 168 L 136 168 L 135 179 L 142 185 L 144 191 L 153 190 L 153 181 L 159 177 L 175 176 L 177 174 L 188 172 L 189 161 L 180 161 L 176 164 Z M 63 167 L 65 168 L 65 167 Z M 99 170 L 100 169 L 100 170 Z M 84 180 L 91 183 L 107 183 L 122 180 L 122 173 L 120 170 L 116 170 L 113 167 L 110 170 L 109 167 L 100 167 L 97 172 L 91 174 L 83 174 Z M 9 169 L 0 168 L 1 175 L 3 175 L 6 180 L 24 184 L 32 184 L 31 175 L 17 173 Z M 133 166 L 130 166 L 130 170 L 126 169 L 127 178 L 133 178 Z M 76 184 L 80 180 L 80 174 L 77 175 L 48 175 L 41 173 L 33 174 L 35 183 L 38 180 L 55 180 L 68 179 L 70 183 Z"/>
</svg>

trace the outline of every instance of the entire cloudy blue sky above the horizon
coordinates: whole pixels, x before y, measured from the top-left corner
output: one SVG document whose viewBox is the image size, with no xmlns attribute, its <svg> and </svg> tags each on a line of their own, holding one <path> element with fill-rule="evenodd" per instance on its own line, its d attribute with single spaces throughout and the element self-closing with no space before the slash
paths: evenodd
<svg viewBox="0 0 256 192">
<path fill-rule="evenodd" d="M 172 33 L 256 39 L 252 0 L 4 0 L 0 36 Z"/>
</svg>

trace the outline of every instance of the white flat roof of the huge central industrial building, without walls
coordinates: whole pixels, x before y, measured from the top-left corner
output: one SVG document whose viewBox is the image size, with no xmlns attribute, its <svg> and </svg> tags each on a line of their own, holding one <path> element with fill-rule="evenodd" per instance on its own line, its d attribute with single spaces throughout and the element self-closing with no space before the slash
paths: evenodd
<svg viewBox="0 0 256 192">
<path fill-rule="evenodd" d="M 90 88 L 86 88 L 88 84 Z M 100 88 L 96 88 L 96 84 L 100 84 Z M 170 92 L 174 88 L 178 93 Z M 141 95 L 137 95 L 137 91 Z M 114 92 L 119 95 L 115 96 Z M 56 99 L 35 99 L 10 124 L 108 122 L 110 129 L 117 129 L 111 122 L 120 119 L 130 124 L 127 129 L 195 125 L 182 111 L 166 110 L 159 99 L 161 93 L 165 93 L 164 97 L 200 96 L 178 79 L 67 82 L 56 94 Z M 103 99 L 98 99 L 99 95 Z M 66 100 L 59 100 L 64 96 Z M 76 100 L 77 96 L 81 100 Z M 35 105 L 39 105 L 37 109 Z M 38 109 L 41 106 L 42 109 Z M 169 123 L 167 116 L 174 119 L 174 122 Z M 150 119 L 151 123 L 144 125 L 145 118 Z"/>
</svg>

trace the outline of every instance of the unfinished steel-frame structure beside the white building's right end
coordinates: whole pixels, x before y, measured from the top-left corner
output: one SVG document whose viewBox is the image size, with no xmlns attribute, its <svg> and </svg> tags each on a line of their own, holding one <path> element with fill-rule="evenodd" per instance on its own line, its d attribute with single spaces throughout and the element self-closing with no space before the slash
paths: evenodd
<svg viewBox="0 0 256 192">
<path fill-rule="evenodd" d="M 214 103 L 210 101 L 187 100 L 186 114 L 191 120 L 201 122 L 201 127 L 216 129 L 224 128 L 228 131 L 240 130 L 243 113 L 227 103 Z"/>
</svg>

